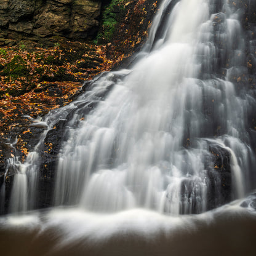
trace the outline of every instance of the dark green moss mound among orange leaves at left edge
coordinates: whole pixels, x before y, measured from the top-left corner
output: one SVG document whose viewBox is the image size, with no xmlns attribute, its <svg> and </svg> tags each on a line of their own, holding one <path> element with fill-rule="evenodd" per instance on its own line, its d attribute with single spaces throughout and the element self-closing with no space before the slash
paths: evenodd
<svg viewBox="0 0 256 256">
<path fill-rule="evenodd" d="M 10 76 L 11 78 L 19 78 L 29 73 L 25 60 L 20 55 L 15 55 L 12 60 L 4 66 L 0 74 Z"/>
</svg>

